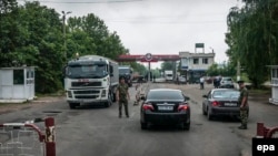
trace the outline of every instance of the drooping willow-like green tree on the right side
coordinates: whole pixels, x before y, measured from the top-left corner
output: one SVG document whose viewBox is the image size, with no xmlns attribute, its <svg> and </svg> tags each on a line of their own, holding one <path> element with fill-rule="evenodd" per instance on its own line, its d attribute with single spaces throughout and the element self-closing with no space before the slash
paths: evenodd
<svg viewBox="0 0 278 156">
<path fill-rule="evenodd" d="M 240 62 L 249 80 L 259 87 L 269 75 L 266 65 L 278 63 L 278 1 L 244 0 L 245 6 L 231 8 L 226 43 L 231 64 Z"/>
</svg>

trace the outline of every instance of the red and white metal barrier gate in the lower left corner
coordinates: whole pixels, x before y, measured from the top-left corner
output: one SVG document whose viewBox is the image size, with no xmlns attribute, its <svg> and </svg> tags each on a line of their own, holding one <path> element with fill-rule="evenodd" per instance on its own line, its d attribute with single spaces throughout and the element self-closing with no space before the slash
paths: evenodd
<svg viewBox="0 0 278 156">
<path fill-rule="evenodd" d="M 44 133 L 37 122 L 44 122 Z M 0 156 L 56 156 L 54 119 L 0 124 Z"/>
</svg>

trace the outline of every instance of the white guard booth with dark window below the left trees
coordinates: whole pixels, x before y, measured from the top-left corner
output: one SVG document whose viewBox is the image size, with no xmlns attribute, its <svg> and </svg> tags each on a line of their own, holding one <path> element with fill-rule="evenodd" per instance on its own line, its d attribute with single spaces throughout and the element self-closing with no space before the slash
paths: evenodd
<svg viewBox="0 0 278 156">
<path fill-rule="evenodd" d="M 0 67 L 0 103 L 34 98 L 34 66 Z"/>
</svg>

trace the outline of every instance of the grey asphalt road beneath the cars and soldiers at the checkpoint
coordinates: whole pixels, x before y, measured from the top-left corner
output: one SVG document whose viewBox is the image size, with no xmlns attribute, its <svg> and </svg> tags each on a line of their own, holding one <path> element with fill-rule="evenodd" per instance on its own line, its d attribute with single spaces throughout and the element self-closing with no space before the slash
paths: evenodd
<svg viewBox="0 0 278 156">
<path fill-rule="evenodd" d="M 118 118 L 118 105 L 70 110 L 64 100 L 33 104 L 24 110 L 0 115 L 0 123 L 23 122 L 52 116 L 56 121 L 57 156 L 237 156 L 251 155 L 251 138 L 257 122 L 278 126 L 278 107 L 250 97 L 248 129 L 240 131 L 235 118 L 208 121 L 201 113 L 201 95 L 212 86 L 176 85 L 169 83 L 143 84 L 143 89 L 180 89 L 190 97 L 191 128 L 155 126 L 140 128 L 140 110 L 133 106 L 135 87 L 130 87 L 130 117 Z M 267 100 L 260 100 L 266 101 Z M 43 128 L 43 123 L 37 124 Z"/>
</svg>

